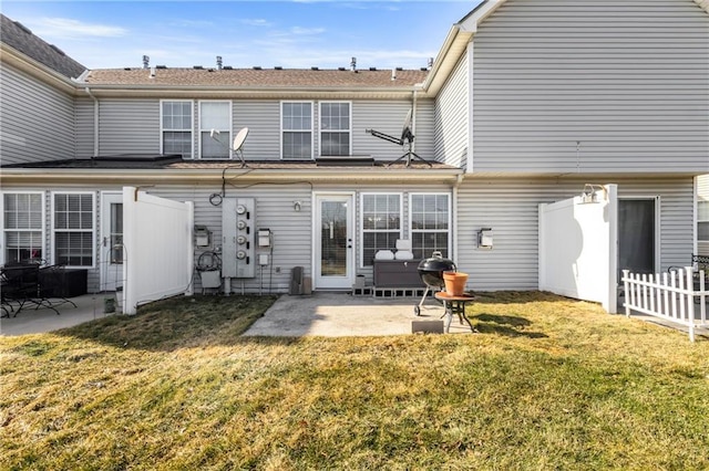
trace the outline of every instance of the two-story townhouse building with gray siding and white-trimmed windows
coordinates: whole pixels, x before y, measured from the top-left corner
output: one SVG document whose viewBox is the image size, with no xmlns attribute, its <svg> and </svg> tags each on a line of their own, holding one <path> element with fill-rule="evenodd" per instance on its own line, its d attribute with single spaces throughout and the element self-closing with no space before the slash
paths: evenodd
<svg viewBox="0 0 709 471">
<path fill-rule="evenodd" d="M 80 71 L 2 22 L 0 261 L 84 266 L 90 291 L 115 287 L 123 258 L 165 271 L 129 244 L 116 257 L 126 191 L 194 206 L 193 260 L 220 259 L 226 292 L 287 292 L 295 268 L 314 290 L 371 283 L 374 253 L 399 239 L 414 259 L 455 260 L 473 290 L 534 290 L 540 205 L 589 182 L 617 185 L 618 270 L 662 271 L 695 249 L 703 0 L 487 0 L 420 71 Z"/>
</svg>

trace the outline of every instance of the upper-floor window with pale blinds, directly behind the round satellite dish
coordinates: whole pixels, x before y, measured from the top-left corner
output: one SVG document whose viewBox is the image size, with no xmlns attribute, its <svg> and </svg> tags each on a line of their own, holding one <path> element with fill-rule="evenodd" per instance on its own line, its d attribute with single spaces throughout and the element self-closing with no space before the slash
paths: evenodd
<svg viewBox="0 0 709 471">
<path fill-rule="evenodd" d="M 199 102 L 199 157 L 230 158 L 232 103 Z"/>
</svg>

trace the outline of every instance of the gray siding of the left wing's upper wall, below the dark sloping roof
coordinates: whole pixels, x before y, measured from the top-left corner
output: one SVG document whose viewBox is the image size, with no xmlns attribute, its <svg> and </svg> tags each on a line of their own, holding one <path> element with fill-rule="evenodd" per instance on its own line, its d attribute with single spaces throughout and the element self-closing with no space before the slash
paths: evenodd
<svg viewBox="0 0 709 471">
<path fill-rule="evenodd" d="M 0 64 L 2 165 L 74 157 L 72 97 Z"/>
</svg>

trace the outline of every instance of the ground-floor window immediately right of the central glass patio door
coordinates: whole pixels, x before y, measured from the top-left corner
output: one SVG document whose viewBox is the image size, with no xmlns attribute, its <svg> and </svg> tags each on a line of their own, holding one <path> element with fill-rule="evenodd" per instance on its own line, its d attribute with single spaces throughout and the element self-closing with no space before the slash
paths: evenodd
<svg viewBox="0 0 709 471">
<path fill-rule="evenodd" d="M 401 239 L 401 195 L 362 195 L 362 266 L 378 250 L 393 250 Z"/>
</svg>

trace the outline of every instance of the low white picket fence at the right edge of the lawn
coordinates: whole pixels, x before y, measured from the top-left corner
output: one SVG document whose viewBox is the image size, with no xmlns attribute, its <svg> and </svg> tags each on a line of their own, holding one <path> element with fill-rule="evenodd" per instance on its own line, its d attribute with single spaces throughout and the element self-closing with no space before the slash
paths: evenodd
<svg viewBox="0 0 709 471">
<path fill-rule="evenodd" d="M 695 329 L 709 327 L 709 286 L 703 271 L 691 266 L 671 273 L 637 274 L 623 271 L 625 314 L 630 311 L 687 326 L 689 339 Z"/>
</svg>

